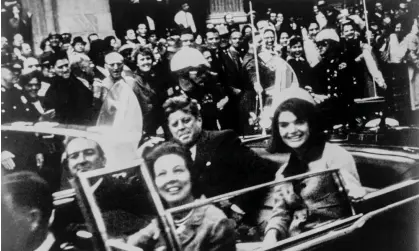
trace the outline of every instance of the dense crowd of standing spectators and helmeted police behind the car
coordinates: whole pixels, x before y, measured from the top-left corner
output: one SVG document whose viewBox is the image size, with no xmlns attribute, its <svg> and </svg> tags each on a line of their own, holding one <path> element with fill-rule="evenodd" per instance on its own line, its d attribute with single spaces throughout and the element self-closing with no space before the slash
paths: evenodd
<svg viewBox="0 0 419 251">
<path fill-rule="evenodd" d="M 134 91 L 152 135 L 162 125 L 161 105 L 178 94 L 198 100 L 204 128 L 240 134 L 257 125 L 258 98 L 274 109 L 277 94 L 293 85 L 312 93 L 328 114 L 325 127 L 354 126 L 357 116 L 365 117 L 356 113 L 356 99 L 384 96 L 384 113 L 401 123 L 412 122 L 406 118 L 417 105 L 410 98 L 419 92 L 414 2 L 397 8 L 377 2 L 367 19 L 360 6 L 338 11 L 319 1 L 309 17 L 269 8 L 249 13 L 247 24 L 226 14 L 224 24 L 208 24 L 205 31 L 196 29 L 185 3 L 174 17 L 178 27 L 163 37 L 148 23 L 132 24 L 120 38 L 52 32 L 40 55 L 32 48 L 31 13 L 16 1 L 3 7 L 2 91 L 13 93 L 2 95 L 3 122 L 93 125 L 118 81 Z"/>
</svg>

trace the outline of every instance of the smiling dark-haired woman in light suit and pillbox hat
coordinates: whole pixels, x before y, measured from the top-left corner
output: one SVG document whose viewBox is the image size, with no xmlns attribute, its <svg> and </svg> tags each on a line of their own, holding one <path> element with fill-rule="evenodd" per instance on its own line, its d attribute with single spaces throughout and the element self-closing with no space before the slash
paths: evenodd
<svg viewBox="0 0 419 251">
<path fill-rule="evenodd" d="M 325 141 L 319 125 L 321 118 L 311 95 L 300 88 L 289 88 L 279 99 L 268 151 L 289 150 L 291 155 L 288 163 L 278 170 L 276 179 L 337 168 L 349 197 L 363 196 L 365 191 L 353 157 L 342 147 Z M 337 188 L 330 174 L 276 186 L 264 244 L 271 245 L 327 221 L 349 216 L 348 201 Z"/>
</svg>

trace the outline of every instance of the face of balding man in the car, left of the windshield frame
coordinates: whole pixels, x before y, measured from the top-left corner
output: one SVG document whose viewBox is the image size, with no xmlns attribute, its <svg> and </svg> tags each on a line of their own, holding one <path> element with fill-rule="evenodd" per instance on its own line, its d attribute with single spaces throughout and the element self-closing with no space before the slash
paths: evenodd
<svg viewBox="0 0 419 251">
<path fill-rule="evenodd" d="M 99 145 L 90 139 L 76 138 L 67 144 L 67 162 L 70 173 L 86 172 L 105 167 L 106 159 Z"/>
</svg>

